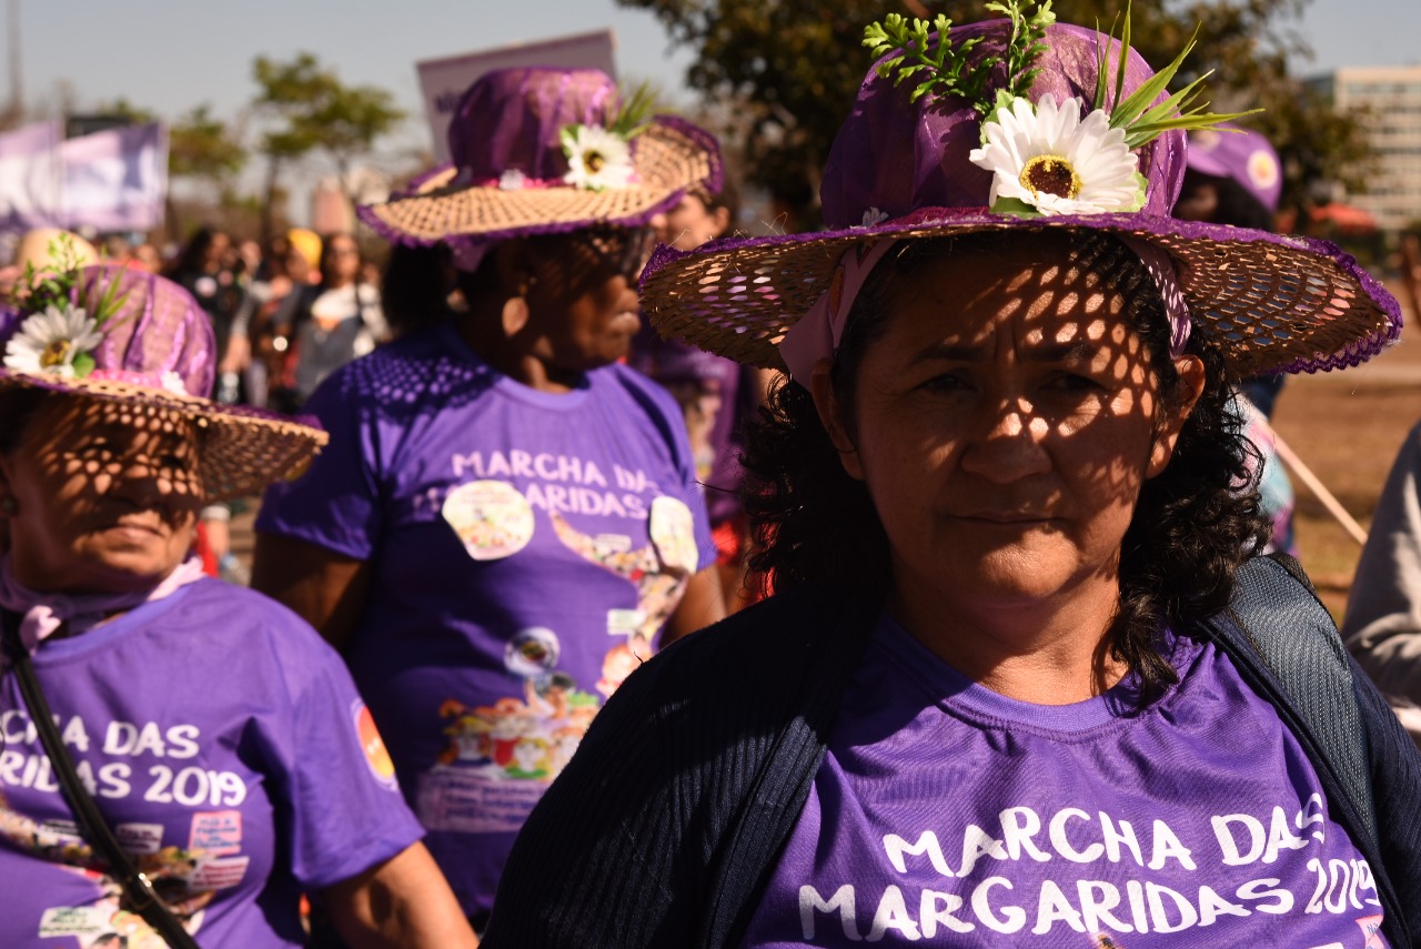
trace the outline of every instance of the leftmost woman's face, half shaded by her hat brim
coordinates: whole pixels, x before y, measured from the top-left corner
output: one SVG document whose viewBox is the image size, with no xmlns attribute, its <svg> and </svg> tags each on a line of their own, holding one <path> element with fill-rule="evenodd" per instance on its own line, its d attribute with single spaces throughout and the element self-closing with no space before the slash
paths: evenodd
<svg viewBox="0 0 1421 949">
<path fill-rule="evenodd" d="M 192 423 L 144 405 L 50 396 L 0 456 L 16 578 L 40 591 L 126 592 L 192 548 L 203 504 Z"/>
</svg>

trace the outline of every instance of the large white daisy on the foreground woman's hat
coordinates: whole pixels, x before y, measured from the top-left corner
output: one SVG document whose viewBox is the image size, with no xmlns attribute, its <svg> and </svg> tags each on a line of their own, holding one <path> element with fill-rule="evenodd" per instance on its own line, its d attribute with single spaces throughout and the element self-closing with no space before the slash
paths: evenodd
<svg viewBox="0 0 1421 949">
<path fill-rule="evenodd" d="M 968 156 L 992 172 L 990 205 L 1023 202 L 1042 215 L 1097 215 L 1144 206 L 1135 175 L 1138 156 L 1124 129 L 1110 128 L 1104 111 L 1084 119 L 1080 101 L 1060 107 L 1043 97 L 1033 108 L 1017 98 L 1010 111 L 982 125 L 982 148 Z"/>
</svg>

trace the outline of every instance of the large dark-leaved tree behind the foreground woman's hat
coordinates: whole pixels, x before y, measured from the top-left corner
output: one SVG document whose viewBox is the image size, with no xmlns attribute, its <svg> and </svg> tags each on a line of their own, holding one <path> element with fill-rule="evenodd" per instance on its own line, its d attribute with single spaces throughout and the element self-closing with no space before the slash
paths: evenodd
<svg viewBox="0 0 1421 949">
<path fill-rule="evenodd" d="M 885 13 L 953 23 L 983 17 L 966 0 L 617 0 L 652 11 L 674 44 L 692 47 L 686 82 L 709 105 L 735 116 L 725 134 L 743 149 L 750 179 L 767 188 L 783 210 L 810 224 L 817 212 L 818 172 L 871 65 L 864 26 Z M 1340 176 L 1366 153 L 1350 116 L 1300 116 L 1310 92 L 1287 75 L 1287 58 L 1306 53 L 1289 30 L 1304 0 L 1199 0 L 1188 6 L 1135 3 L 1133 45 L 1155 65 L 1174 60 L 1195 23 L 1198 45 L 1175 80 L 1209 78 L 1218 111 L 1270 109 L 1252 122 L 1275 139 L 1289 172 L 1289 196 L 1317 176 Z M 1124 9 L 1121 0 L 1071 0 L 1063 18 L 1103 30 Z"/>
</svg>

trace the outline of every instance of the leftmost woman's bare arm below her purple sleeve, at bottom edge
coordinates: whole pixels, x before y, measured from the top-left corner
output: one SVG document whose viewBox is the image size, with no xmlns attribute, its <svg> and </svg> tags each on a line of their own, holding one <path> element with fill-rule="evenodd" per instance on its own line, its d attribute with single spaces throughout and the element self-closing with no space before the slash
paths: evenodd
<svg viewBox="0 0 1421 949">
<path fill-rule="evenodd" d="M 472 949 L 479 945 L 423 844 L 323 891 L 352 949 Z"/>
</svg>

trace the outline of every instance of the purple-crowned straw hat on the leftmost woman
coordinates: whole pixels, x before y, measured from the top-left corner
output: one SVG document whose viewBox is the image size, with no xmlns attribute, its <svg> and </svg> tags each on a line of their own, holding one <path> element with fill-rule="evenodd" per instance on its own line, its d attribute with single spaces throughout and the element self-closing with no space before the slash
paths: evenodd
<svg viewBox="0 0 1421 949">
<path fill-rule="evenodd" d="M 206 398 L 216 365 L 212 322 L 178 284 L 115 266 L 85 267 L 75 284 L 74 305 L 0 318 L 0 389 L 41 388 L 121 402 L 135 415 L 190 418 L 203 432 L 199 472 L 209 500 L 296 477 L 327 443 L 311 425 Z"/>
</svg>

